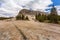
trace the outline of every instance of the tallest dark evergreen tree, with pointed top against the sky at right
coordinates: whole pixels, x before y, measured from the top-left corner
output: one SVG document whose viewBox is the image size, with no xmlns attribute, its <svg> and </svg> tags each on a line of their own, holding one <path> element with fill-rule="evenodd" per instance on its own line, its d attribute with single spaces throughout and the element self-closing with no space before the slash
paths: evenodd
<svg viewBox="0 0 60 40">
<path fill-rule="evenodd" d="M 58 23 L 58 15 L 57 15 L 57 11 L 56 8 L 53 6 L 51 9 L 51 13 L 48 16 L 48 19 L 50 20 L 50 22 L 52 23 Z"/>
</svg>

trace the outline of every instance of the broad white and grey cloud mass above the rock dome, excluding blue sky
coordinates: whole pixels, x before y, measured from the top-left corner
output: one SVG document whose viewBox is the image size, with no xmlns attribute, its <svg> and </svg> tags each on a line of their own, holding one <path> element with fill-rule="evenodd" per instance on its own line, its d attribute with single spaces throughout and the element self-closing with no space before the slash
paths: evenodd
<svg viewBox="0 0 60 40">
<path fill-rule="evenodd" d="M 12 15 L 16 15 L 17 12 L 23 9 L 22 6 L 25 6 L 26 9 L 33 10 L 42 10 L 45 11 L 47 6 L 51 4 L 51 0 L 3 0 L 4 5 L 0 8 L 0 10 L 5 11 L 4 13 L 11 13 Z"/>
</svg>

